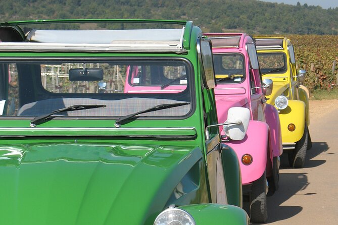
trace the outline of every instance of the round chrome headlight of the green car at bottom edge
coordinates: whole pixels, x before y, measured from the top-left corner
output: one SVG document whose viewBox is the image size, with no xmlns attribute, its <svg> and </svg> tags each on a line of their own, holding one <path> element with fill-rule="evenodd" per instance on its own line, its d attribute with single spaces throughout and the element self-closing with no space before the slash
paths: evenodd
<svg viewBox="0 0 338 225">
<path fill-rule="evenodd" d="M 195 221 L 182 209 L 168 208 L 157 216 L 154 225 L 195 225 Z"/>
</svg>

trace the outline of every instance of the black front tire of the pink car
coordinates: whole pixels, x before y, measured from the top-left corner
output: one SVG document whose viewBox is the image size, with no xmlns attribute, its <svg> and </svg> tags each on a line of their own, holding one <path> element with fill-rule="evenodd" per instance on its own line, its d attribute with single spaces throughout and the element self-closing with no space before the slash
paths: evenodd
<svg viewBox="0 0 338 225">
<path fill-rule="evenodd" d="M 256 223 L 266 222 L 268 219 L 266 202 L 266 173 L 251 187 L 250 220 Z"/>
</svg>

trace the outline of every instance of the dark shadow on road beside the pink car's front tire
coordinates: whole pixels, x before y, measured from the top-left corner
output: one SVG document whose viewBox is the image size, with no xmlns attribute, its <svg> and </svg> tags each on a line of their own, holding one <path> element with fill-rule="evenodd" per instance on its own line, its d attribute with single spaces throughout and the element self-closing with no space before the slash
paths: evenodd
<svg viewBox="0 0 338 225">
<path fill-rule="evenodd" d="M 303 210 L 303 207 L 301 206 L 287 206 L 281 204 L 294 196 L 297 192 L 305 190 L 308 184 L 307 173 L 280 174 L 279 190 L 267 199 L 268 221 L 264 224 L 288 219 L 300 213 Z"/>
</svg>

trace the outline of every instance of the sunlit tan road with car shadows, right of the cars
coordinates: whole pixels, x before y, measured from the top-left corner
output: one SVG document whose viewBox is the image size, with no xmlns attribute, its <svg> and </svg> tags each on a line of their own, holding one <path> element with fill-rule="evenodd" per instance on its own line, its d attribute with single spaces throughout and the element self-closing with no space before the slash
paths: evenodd
<svg viewBox="0 0 338 225">
<path fill-rule="evenodd" d="M 312 149 L 305 167 L 282 157 L 279 190 L 268 197 L 265 224 L 338 224 L 338 100 L 310 100 Z"/>
</svg>

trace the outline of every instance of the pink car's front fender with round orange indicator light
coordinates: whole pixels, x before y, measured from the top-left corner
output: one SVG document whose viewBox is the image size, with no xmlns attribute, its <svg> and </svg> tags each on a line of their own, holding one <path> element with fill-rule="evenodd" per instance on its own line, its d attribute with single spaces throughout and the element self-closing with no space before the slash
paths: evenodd
<svg viewBox="0 0 338 225">
<path fill-rule="evenodd" d="M 247 134 L 243 140 L 224 142 L 233 148 L 237 154 L 243 185 L 256 181 L 265 171 L 268 157 L 268 134 L 269 126 L 266 123 L 250 121 Z M 244 154 L 252 156 L 253 161 L 250 165 L 242 163 Z"/>
</svg>

